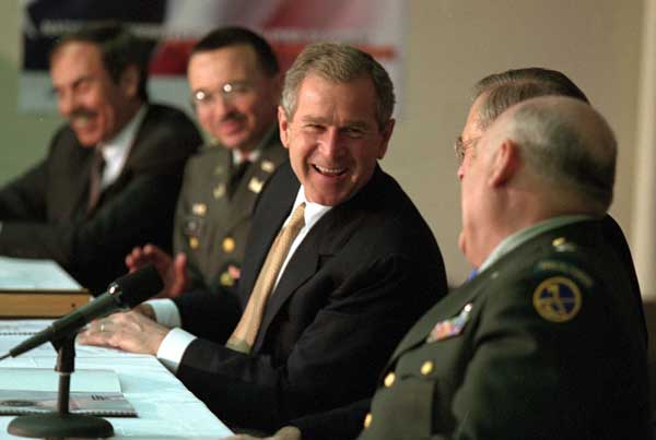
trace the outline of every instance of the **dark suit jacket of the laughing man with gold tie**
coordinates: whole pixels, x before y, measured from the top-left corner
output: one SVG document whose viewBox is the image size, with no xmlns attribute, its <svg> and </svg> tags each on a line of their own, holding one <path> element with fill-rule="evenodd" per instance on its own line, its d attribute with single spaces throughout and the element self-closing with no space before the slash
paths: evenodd
<svg viewBox="0 0 656 440">
<path fill-rule="evenodd" d="M 187 330 L 221 343 L 230 335 L 298 188 L 289 163 L 281 165 L 256 206 L 238 304 L 226 307 L 227 295 L 181 296 Z M 445 292 L 431 230 L 396 181 L 376 169 L 300 245 L 271 294 L 253 353 L 198 338 L 178 377 L 222 420 L 273 429 L 370 395 L 399 338 Z"/>
</svg>

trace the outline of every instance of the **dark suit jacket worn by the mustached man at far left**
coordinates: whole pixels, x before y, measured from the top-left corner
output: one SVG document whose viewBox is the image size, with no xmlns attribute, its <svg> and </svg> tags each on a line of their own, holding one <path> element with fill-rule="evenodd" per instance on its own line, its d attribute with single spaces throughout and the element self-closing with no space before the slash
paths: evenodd
<svg viewBox="0 0 656 440">
<path fill-rule="evenodd" d="M 0 190 L 0 254 L 52 259 L 103 292 L 134 246 L 171 249 L 183 168 L 200 143 L 181 111 L 150 105 L 120 176 L 87 213 L 94 148 L 61 128 L 47 157 Z"/>
</svg>

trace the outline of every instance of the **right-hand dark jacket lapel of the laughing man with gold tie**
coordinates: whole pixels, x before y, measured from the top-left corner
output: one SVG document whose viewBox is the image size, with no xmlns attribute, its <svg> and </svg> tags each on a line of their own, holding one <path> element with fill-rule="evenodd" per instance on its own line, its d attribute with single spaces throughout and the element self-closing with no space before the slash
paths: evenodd
<svg viewBox="0 0 656 440">
<path fill-rule="evenodd" d="M 367 215 L 367 206 L 375 205 L 376 199 L 383 197 L 382 179 L 383 171 L 376 168 L 370 182 L 358 194 L 331 209 L 305 236 L 269 297 L 254 346 L 255 350 L 259 348 L 269 325 L 288 298 L 318 271 L 320 259 L 333 255 L 344 246 L 358 230 L 363 216 Z"/>
</svg>

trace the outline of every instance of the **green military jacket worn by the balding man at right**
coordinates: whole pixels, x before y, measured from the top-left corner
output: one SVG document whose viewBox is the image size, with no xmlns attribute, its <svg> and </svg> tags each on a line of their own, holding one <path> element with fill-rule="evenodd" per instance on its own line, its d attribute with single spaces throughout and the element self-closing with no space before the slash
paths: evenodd
<svg viewBox="0 0 656 440">
<path fill-rule="evenodd" d="M 647 439 L 646 350 L 600 221 L 520 243 L 434 306 L 361 439 Z"/>
</svg>

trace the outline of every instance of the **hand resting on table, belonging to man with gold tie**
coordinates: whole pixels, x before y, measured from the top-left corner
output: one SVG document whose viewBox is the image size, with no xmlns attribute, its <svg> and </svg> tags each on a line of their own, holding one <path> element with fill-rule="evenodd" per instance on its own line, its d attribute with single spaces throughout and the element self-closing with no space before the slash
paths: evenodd
<svg viewBox="0 0 656 440">
<path fill-rule="evenodd" d="M 168 329 L 165 326 L 142 313 L 128 311 L 93 321 L 78 335 L 78 342 L 156 355 L 166 333 Z"/>
</svg>

